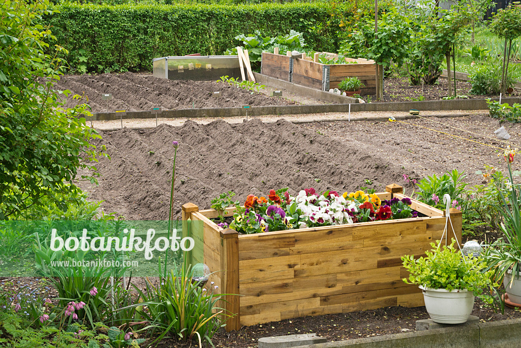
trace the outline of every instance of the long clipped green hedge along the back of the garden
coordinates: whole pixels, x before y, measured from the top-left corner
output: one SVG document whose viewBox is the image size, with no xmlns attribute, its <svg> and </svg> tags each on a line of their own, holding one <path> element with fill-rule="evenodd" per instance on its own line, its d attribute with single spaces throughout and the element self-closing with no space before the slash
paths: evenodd
<svg viewBox="0 0 521 348">
<path fill-rule="evenodd" d="M 239 44 L 240 33 L 304 32 L 316 51 L 338 49 L 337 18 L 324 3 L 259 5 L 136 5 L 64 3 L 44 17 L 57 44 L 68 49 L 73 69 L 151 70 L 152 59 L 201 53 L 222 54 Z M 335 11 L 338 11 L 336 9 Z M 84 62 L 86 58 L 86 62 Z"/>
</svg>

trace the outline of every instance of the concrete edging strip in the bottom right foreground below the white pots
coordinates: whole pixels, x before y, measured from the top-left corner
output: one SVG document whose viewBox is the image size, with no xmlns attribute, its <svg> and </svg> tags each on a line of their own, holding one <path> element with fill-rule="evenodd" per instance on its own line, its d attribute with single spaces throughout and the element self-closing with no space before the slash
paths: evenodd
<svg viewBox="0 0 521 348">
<path fill-rule="evenodd" d="M 299 348 L 506 348 L 519 346 L 521 319 L 482 322 L 457 328 L 411 331 Z"/>
</svg>

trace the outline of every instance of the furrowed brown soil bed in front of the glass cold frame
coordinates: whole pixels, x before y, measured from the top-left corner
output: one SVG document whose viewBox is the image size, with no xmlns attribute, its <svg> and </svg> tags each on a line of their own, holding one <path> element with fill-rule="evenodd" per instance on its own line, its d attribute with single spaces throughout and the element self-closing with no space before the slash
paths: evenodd
<svg viewBox="0 0 521 348">
<path fill-rule="evenodd" d="M 93 113 L 143 111 L 159 106 L 164 109 L 201 109 L 296 104 L 282 98 L 277 101 L 277 97 L 261 93 L 251 94 L 247 90 L 216 81 L 172 81 L 131 72 L 64 76 L 55 84 L 55 88 L 72 92 L 67 98 L 66 107 L 77 105 L 78 101 L 73 100 L 72 95 L 79 94 L 84 96 L 81 103 L 88 103 Z M 221 92 L 221 97 L 212 97 L 212 92 Z M 107 103 L 103 100 L 103 94 L 112 94 L 113 99 Z"/>
</svg>

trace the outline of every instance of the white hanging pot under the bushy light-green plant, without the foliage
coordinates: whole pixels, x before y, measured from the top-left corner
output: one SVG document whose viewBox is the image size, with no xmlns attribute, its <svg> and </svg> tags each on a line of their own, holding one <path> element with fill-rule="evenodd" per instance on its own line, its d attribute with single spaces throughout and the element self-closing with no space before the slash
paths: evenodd
<svg viewBox="0 0 521 348">
<path fill-rule="evenodd" d="M 424 294 L 425 308 L 432 321 L 441 324 L 466 322 L 474 308 L 474 294 L 467 290 L 419 287 Z"/>
</svg>

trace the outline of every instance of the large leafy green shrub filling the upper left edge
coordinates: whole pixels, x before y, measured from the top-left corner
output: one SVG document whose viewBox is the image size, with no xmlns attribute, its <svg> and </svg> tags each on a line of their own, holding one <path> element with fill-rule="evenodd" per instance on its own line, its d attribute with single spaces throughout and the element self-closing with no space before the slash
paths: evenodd
<svg viewBox="0 0 521 348">
<path fill-rule="evenodd" d="M 88 164 L 97 155 L 89 141 L 101 137 L 85 124 L 88 106 L 63 108 L 53 91 L 64 50 L 55 46 L 54 56 L 44 54 L 54 37 L 35 24 L 50 12 L 48 5 L 47 0 L 0 4 L 0 220 L 42 205 L 44 197 L 66 209 L 80 198 L 72 183 L 78 168 L 95 170 Z"/>
</svg>

